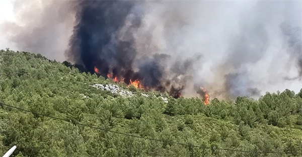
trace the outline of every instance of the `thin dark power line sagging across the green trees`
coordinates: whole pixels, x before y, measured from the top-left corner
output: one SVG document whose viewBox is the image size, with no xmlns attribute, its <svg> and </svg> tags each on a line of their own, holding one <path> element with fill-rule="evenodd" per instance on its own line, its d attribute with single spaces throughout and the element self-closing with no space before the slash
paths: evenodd
<svg viewBox="0 0 302 157">
<path fill-rule="evenodd" d="M 1 105 L 1 106 L 3 106 L 3 105 L 9 106 L 9 107 L 11 107 L 11 108 L 16 108 L 16 109 L 18 109 L 18 110 L 22 110 L 22 111 L 34 113 L 34 114 L 41 115 L 41 116 L 45 116 L 45 117 L 49 117 L 49 118 L 52 118 L 52 119 L 57 119 L 57 120 L 62 120 L 62 121 L 70 122 L 70 121 L 68 121 L 68 120 L 66 120 L 66 119 L 62 119 L 62 118 L 58 118 L 58 117 L 53 117 L 53 116 L 49 116 L 49 115 L 45 115 L 45 114 L 33 112 L 33 111 L 26 110 L 26 109 L 23 109 L 23 108 L 20 108 L 20 107 L 8 105 L 8 104 L 2 103 L 2 102 L 0 102 L 0 105 Z M 173 142 L 173 141 L 167 141 L 167 140 L 160 140 L 160 139 L 142 137 L 142 136 L 127 134 L 127 133 L 122 133 L 122 132 L 107 130 L 107 129 L 104 129 L 104 128 L 95 127 L 95 126 L 90 126 L 90 125 L 87 125 L 87 124 L 82 124 L 82 123 L 77 123 L 77 122 L 72 122 L 72 123 L 73 123 L 73 124 L 82 125 L 82 126 L 86 126 L 86 127 L 90 127 L 90 128 L 94 128 L 94 129 L 103 130 L 103 131 L 108 131 L 108 132 L 113 132 L 113 133 L 122 134 L 122 135 L 126 135 L 126 136 L 136 137 L 136 138 L 142 138 L 142 139 L 148 139 L 148 140 L 154 140 L 154 141 L 161 141 L 161 142 L 169 142 L 169 143 L 173 143 L 173 144 L 179 144 L 179 145 L 184 145 L 184 146 L 192 146 L 192 147 L 198 147 L 198 148 L 205 148 L 205 149 L 226 150 L 226 151 L 237 151 L 237 152 L 248 152 L 248 153 L 302 154 L 301 152 L 248 151 L 248 150 L 236 150 L 236 149 L 228 149 L 228 148 L 216 148 L 216 147 L 206 147 L 206 146 L 199 146 L 199 145 L 190 145 L 190 144 L 185 144 L 185 143 L 179 143 L 179 142 Z M 150 154 L 164 156 L 164 155 L 155 154 L 155 153 L 150 153 Z"/>
</svg>

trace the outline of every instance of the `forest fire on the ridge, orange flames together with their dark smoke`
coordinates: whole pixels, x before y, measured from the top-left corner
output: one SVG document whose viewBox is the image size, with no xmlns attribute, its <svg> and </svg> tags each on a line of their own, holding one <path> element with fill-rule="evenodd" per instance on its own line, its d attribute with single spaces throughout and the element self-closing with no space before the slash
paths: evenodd
<svg viewBox="0 0 302 157">
<path fill-rule="evenodd" d="M 83 71 L 96 73 L 116 83 L 125 83 L 128 87 L 132 84 L 145 91 L 167 92 L 176 99 L 196 95 L 195 89 L 189 91 L 187 88 L 193 87 L 190 85 L 193 82 L 189 81 L 193 77 L 193 64 L 200 59 L 200 55 L 179 58 L 178 55 L 166 54 L 166 51 L 153 53 L 156 45 L 148 45 L 149 42 L 137 45 L 140 36 L 134 30 L 140 28 L 143 21 L 139 16 L 128 18 L 136 16 L 129 14 L 134 7 L 132 1 L 104 1 L 106 5 L 99 2 L 79 5 L 78 25 L 74 27 L 69 41 L 68 54 L 74 62 L 83 66 Z M 128 4 L 128 7 L 116 10 L 113 6 L 119 3 Z M 129 26 L 126 25 L 128 23 Z M 138 48 L 141 46 L 147 49 L 141 51 Z M 199 86 L 195 87 L 200 90 Z M 205 98 L 204 103 L 208 104 L 208 95 L 200 94 L 200 97 Z"/>
</svg>

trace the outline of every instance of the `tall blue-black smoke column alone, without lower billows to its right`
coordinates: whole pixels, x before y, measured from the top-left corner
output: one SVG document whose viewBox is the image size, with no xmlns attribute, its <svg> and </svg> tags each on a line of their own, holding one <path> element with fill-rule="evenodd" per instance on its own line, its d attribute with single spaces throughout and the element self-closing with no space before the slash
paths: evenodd
<svg viewBox="0 0 302 157">
<path fill-rule="evenodd" d="M 95 66 L 103 76 L 110 68 L 129 73 L 136 55 L 131 30 L 128 30 L 127 40 L 121 40 L 118 31 L 130 15 L 133 18 L 131 29 L 139 27 L 140 18 L 131 12 L 133 7 L 132 1 L 79 0 L 69 57 L 84 64 L 91 73 Z"/>
</svg>

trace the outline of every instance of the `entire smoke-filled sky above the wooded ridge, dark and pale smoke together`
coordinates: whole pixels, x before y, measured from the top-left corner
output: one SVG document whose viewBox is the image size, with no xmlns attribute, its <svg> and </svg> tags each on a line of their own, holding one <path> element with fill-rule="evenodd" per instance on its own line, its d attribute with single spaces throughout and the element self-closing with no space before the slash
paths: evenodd
<svg viewBox="0 0 302 157">
<path fill-rule="evenodd" d="M 88 71 L 95 66 L 88 53 L 143 76 L 164 66 L 158 75 L 183 76 L 185 96 L 195 96 L 196 86 L 220 98 L 302 87 L 301 1 L 107 2 L 0 1 L 0 49 L 81 63 Z"/>
</svg>

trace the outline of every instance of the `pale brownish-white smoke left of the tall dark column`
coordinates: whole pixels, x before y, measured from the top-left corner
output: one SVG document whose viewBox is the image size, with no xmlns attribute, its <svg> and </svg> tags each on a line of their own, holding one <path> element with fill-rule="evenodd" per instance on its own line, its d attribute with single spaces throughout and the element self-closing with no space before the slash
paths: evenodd
<svg viewBox="0 0 302 157">
<path fill-rule="evenodd" d="M 73 5 L 68 1 L 16 1 L 14 5 L 16 19 L 2 24 L 2 35 L 19 51 L 64 61 L 74 21 Z"/>
</svg>

